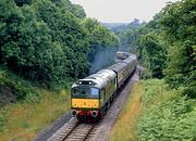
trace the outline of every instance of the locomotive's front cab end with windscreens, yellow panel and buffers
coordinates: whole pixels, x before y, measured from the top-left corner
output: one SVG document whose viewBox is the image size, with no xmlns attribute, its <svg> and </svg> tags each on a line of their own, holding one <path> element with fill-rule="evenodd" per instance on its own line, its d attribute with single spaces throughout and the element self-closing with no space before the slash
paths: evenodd
<svg viewBox="0 0 196 141">
<path fill-rule="evenodd" d="M 71 114 L 78 119 L 97 118 L 100 107 L 100 89 L 94 81 L 79 80 L 72 87 Z"/>
</svg>

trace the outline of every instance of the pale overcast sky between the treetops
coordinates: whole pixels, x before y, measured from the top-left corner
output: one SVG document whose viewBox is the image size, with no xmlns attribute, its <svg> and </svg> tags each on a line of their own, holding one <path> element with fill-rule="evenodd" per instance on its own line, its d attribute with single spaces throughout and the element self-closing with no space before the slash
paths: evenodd
<svg viewBox="0 0 196 141">
<path fill-rule="evenodd" d="M 130 23 L 134 18 L 148 22 L 168 2 L 177 0 L 71 0 L 81 4 L 88 17 L 106 23 Z"/>
</svg>

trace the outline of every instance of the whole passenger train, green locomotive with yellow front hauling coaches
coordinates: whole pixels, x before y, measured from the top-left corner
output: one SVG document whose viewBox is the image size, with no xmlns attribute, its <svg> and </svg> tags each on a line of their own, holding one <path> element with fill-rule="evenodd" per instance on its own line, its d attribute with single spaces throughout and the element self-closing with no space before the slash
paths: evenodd
<svg viewBox="0 0 196 141">
<path fill-rule="evenodd" d="M 71 115 L 78 120 L 99 120 L 118 91 L 137 66 L 135 54 L 117 52 L 118 63 L 73 84 Z"/>
</svg>

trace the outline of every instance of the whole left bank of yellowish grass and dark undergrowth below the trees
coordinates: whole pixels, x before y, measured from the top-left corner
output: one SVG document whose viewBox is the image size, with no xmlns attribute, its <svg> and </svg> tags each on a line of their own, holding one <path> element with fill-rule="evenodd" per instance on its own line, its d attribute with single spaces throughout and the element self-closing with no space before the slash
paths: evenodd
<svg viewBox="0 0 196 141">
<path fill-rule="evenodd" d="M 0 141 L 27 141 L 70 108 L 69 90 L 54 93 L 0 70 Z"/>
</svg>

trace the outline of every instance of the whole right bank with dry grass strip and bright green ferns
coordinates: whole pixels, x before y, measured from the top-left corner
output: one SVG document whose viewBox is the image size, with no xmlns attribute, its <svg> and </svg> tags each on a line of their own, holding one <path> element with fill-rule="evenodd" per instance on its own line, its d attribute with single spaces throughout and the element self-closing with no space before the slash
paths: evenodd
<svg viewBox="0 0 196 141">
<path fill-rule="evenodd" d="M 182 89 L 171 90 L 158 79 L 136 84 L 110 140 L 196 140 L 196 102 Z"/>
</svg>

